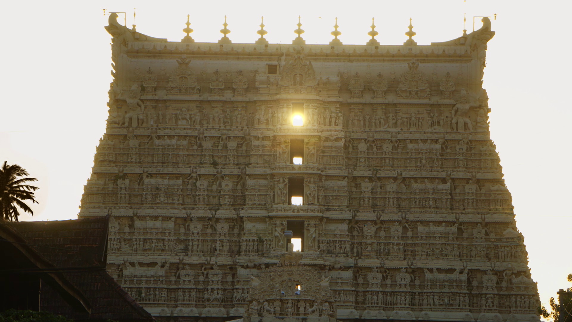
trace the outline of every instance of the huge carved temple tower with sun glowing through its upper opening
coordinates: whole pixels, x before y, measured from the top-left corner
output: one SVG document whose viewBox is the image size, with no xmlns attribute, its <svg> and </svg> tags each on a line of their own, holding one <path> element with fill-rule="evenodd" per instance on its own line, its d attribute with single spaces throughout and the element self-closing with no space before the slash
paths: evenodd
<svg viewBox="0 0 572 322">
<path fill-rule="evenodd" d="M 109 18 L 109 119 L 80 217 L 168 321 L 538 321 L 488 129 L 491 21 L 451 41 L 235 44 Z M 501 90 L 501 89 L 499 89 Z M 296 248 L 296 250 L 294 249 Z"/>
</svg>

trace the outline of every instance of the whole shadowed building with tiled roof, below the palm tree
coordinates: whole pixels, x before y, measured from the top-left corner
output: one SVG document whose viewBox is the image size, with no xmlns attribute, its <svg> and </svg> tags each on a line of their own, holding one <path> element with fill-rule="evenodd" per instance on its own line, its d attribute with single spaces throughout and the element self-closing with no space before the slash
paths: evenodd
<svg viewBox="0 0 572 322">
<path fill-rule="evenodd" d="M 153 321 L 105 272 L 108 219 L 0 224 L 1 252 L 11 258 L 0 270 L 3 308 L 77 321 Z"/>
</svg>

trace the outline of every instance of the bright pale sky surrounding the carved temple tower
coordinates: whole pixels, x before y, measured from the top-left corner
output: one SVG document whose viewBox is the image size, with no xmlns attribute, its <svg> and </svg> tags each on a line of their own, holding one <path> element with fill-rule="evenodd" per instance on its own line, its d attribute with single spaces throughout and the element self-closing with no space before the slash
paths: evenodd
<svg viewBox="0 0 572 322">
<path fill-rule="evenodd" d="M 459 37 L 463 13 L 492 16 L 484 88 L 491 137 L 513 194 L 533 279 L 547 303 L 572 273 L 569 1 L 8 1 L 2 6 L 0 161 L 17 163 L 39 179 L 39 205 L 23 220 L 77 218 L 93 154 L 105 131 L 110 36 L 101 9 L 137 8 L 137 31 L 180 41 L 186 15 L 191 36 L 216 42 L 228 15 L 229 38 L 254 42 L 264 15 L 266 38 L 290 44 L 302 16 L 307 44 L 327 44 L 338 17 L 344 44 L 365 44 L 371 17 L 379 42 L 402 44 L 409 18 L 419 45 Z M 121 16 L 119 21 L 123 21 Z M 475 19 L 476 29 L 480 19 Z M 555 118 L 559 121 L 556 122 Z"/>
</svg>

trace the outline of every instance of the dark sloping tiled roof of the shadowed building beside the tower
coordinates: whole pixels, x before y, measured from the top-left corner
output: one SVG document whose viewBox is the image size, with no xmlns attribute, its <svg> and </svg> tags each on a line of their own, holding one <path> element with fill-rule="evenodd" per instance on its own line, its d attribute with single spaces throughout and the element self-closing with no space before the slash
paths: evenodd
<svg viewBox="0 0 572 322">
<path fill-rule="evenodd" d="M 13 223 L 27 242 L 62 269 L 89 300 L 91 315 L 74 311 L 49 285 L 42 285 L 40 309 L 74 320 L 153 321 L 105 271 L 108 218 Z"/>
</svg>

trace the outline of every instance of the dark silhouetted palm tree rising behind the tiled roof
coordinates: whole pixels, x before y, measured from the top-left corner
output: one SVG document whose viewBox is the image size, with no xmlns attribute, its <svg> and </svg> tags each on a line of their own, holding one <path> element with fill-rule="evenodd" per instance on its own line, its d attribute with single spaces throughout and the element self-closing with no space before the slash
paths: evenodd
<svg viewBox="0 0 572 322">
<path fill-rule="evenodd" d="M 31 200 L 38 203 L 34 199 L 33 191 L 38 187 L 29 186 L 26 182 L 37 181 L 36 178 L 20 178 L 28 175 L 28 172 L 18 164 L 8 165 L 4 162 L 0 169 L 0 219 L 7 221 L 18 221 L 20 215 L 18 208 L 34 215 L 34 211 L 26 205 L 24 200 Z M 19 178 L 19 179 L 18 179 Z"/>
</svg>

